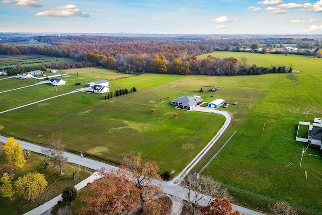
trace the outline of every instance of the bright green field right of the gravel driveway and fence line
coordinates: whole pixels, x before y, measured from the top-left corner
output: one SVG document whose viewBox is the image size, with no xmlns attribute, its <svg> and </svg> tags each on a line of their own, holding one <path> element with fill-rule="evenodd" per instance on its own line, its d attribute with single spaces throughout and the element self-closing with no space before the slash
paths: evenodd
<svg viewBox="0 0 322 215">
<path fill-rule="evenodd" d="M 216 56 L 218 53 L 236 57 L 235 52 L 215 52 Z M 301 151 L 306 144 L 295 141 L 297 124 L 306 121 L 307 110 L 307 121 L 322 117 L 322 94 L 318 93 L 322 90 L 319 72 L 322 60 L 254 53 L 244 56 L 252 62 L 253 56 L 268 56 L 266 60 L 273 60 L 272 65 L 286 64 L 286 59 L 290 59 L 300 73 L 273 75 L 276 80 L 272 80 L 245 123 L 203 174 L 224 184 L 322 211 L 322 155 L 318 149 L 309 147 L 299 170 Z"/>
</svg>

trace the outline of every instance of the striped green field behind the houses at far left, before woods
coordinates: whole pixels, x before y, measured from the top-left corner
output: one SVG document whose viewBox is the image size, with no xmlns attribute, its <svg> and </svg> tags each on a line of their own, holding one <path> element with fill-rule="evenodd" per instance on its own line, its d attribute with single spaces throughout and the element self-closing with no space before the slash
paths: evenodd
<svg viewBox="0 0 322 215">
<path fill-rule="evenodd" d="M 44 55 L 0 55 L 0 68 L 5 67 L 16 67 L 16 65 L 29 66 L 29 65 L 40 65 L 51 63 L 64 63 L 73 62 L 76 60 L 66 58 L 66 57 L 49 57 Z"/>
</svg>

